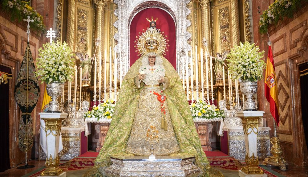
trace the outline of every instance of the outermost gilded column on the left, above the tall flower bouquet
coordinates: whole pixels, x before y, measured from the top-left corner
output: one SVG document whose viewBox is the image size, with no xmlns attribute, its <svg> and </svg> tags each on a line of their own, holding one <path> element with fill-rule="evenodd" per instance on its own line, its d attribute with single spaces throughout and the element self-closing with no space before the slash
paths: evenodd
<svg viewBox="0 0 308 177">
<path fill-rule="evenodd" d="M 68 0 L 66 42 L 73 52 L 76 50 L 76 0 Z"/>
</svg>

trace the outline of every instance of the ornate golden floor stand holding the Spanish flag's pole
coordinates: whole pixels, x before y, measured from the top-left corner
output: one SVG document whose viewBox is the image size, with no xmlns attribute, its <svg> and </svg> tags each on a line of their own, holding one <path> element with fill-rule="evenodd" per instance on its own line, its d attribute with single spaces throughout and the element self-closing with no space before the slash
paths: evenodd
<svg viewBox="0 0 308 177">
<path fill-rule="evenodd" d="M 265 158 L 262 164 L 278 166 L 280 170 L 286 171 L 286 166 L 289 165 L 289 164 L 281 156 L 282 150 L 280 148 L 279 138 L 273 137 L 273 138 L 270 139 L 270 142 L 273 145 L 272 149 L 270 150 L 273 155 L 268 157 L 268 158 Z"/>
</svg>

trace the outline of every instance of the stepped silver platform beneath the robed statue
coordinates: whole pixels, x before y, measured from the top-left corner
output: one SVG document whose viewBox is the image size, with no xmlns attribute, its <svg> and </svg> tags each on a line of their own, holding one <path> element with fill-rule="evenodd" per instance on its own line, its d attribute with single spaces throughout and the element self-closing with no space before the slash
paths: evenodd
<svg viewBox="0 0 308 177">
<path fill-rule="evenodd" d="M 193 164 L 194 156 L 111 156 L 112 164 L 105 169 L 110 177 L 197 177 L 201 169 Z M 100 169 L 102 170 L 102 169 Z"/>
</svg>

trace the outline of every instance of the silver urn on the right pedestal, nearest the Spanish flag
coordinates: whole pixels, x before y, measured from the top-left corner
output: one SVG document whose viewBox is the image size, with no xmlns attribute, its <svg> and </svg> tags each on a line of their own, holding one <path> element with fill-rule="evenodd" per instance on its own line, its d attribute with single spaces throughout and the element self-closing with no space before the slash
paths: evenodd
<svg viewBox="0 0 308 177">
<path fill-rule="evenodd" d="M 240 82 L 241 91 L 246 95 L 247 100 L 244 102 L 244 111 L 257 111 L 256 102 L 253 100 L 253 95 L 257 93 L 257 82 L 242 80 Z"/>
</svg>

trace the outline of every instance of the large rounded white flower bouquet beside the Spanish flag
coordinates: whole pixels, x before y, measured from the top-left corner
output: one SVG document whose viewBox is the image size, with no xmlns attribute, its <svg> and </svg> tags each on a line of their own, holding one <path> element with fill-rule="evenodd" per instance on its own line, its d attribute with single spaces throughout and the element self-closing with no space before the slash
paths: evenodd
<svg viewBox="0 0 308 177">
<path fill-rule="evenodd" d="M 249 42 L 240 42 L 231 49 L 227 61 L 232 79 L 261 80 L 265 62 L 262 60 L 264 51 L 259 50 L 259 46 Z"/>
</svg>

